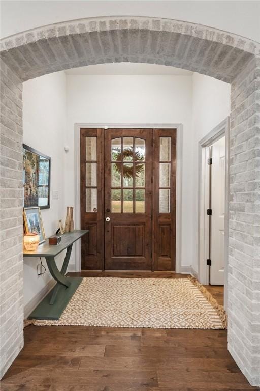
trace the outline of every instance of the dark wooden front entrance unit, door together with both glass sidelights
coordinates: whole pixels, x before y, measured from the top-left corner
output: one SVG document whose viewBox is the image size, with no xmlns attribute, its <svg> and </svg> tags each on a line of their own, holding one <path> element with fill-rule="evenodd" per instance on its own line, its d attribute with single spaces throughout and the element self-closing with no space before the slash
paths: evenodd
<svg viewBox="0 0 260 391">
<path fill-rule="evenodd" d="M 176 129 L 81 129 L 82 270 L 175 270 Z"/>
</svg>

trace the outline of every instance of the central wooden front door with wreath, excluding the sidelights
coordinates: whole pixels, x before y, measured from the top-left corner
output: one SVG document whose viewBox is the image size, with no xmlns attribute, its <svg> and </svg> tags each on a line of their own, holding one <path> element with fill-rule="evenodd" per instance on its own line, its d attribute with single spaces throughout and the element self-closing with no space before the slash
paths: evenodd
<svg viewBox="0 0 260 391">
<path fill-rule="evenodd" d="M 105 131 L 105 269 L 151 270 L 151 129 Z"/>
</svg>

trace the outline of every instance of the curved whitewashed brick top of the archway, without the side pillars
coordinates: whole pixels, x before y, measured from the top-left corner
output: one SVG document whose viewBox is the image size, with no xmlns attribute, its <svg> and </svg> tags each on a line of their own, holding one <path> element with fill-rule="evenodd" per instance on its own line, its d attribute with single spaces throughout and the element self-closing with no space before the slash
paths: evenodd
<svg viewBox="0 0 260 391">
<path fill-rule="evenodd" d="M 1 42 L 1 58 L 22 81 L 85 65 L 141 62 L 231 82 L 259 50 L 256 42 L 211 27 L 130 16 L 52 24 Z"/>
</svg>

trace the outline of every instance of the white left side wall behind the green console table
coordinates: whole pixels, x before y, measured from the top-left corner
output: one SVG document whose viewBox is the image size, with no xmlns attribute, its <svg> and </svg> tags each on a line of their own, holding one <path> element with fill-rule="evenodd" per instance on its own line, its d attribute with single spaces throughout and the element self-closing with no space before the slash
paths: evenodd
<svg viewBox="0 0 260 391">
<path fill-rule="evenodd" d="M 42 209 L 46 237 L 66 215 L 63 203 L 64 133 L 66 128 L 66 75 L 52 73 L 23 83 L 23 143 L 51 157 L 50 209 Z M 58 190 L 58 200 L 52 191 Z M 59 257 L 60 259 L 61 257 Z M 51 276 L 37 275 L 39 258 L 24 258 L 24 305 L 46 287 Z M 43 263 L 46 266 L 45 259 Z M 60 261 L 59 261 L 60 263 Z"/>
</svg>

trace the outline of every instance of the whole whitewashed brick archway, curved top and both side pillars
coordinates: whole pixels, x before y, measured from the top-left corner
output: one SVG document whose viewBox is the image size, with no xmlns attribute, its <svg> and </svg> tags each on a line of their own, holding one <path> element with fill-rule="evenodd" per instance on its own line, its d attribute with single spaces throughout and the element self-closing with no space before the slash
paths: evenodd
<svg viewBox="0 0 260 391">
<path fill-rule="evenodd" d="M 232 83 L 229 350 L 250 383 L 259 385 L 259 43 L 188 22 L 102 17 L 39 27 L 3 39 L 0 45 L 1 298 L 7 303 L 0 325 L 5 341 L 2 374 L 23 345 L 22 81 L 90 64 L 143 62 L 180 67 Z"/>
</svg>

